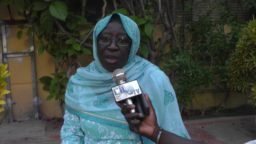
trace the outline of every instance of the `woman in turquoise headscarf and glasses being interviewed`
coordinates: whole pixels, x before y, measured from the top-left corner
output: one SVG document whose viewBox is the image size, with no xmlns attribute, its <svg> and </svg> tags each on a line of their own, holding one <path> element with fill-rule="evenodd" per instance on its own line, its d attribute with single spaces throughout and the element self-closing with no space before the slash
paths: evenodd
<svg viewBox="0 0 256 144">
<path fill-rule="evenodd" d="M 149 94 L 158 125 L 190 139 L 168 77 L 157 66 L 136 56 L 139 44 L 137 24 L 122 14 L 113 13 L 96 24 L 95 61 L 77 69 L 67 85 L 62 144 L 140 143 L 139 136 L 129 130 L 111 91 L 116 85 L 112 72 L 118 68 L 126 72 L 127 81 L 137 79 L 144 93 Z M 143 141 L 152 143 L 145 137 Z"/>
</svg>

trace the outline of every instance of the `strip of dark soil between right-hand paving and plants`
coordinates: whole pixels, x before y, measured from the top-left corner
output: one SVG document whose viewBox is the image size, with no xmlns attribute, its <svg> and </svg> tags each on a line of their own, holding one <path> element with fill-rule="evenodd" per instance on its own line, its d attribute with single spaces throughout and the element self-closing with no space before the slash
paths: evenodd
<svg viewBox="0 0 256 144">
<path fill-rule="evenodd" d="M 256 115 L 256 107 L 253 108 L 251 105 L 240 106 L 236 109 L 224 109 L 219 110 L 215 114 L 215 108 L 205 110 L 205 114 L 201 116 L 201 110 L 187 110 L 189 114 L 182 111 L 181 117 L 182 120 L 197 120 L 197 119 L 209 119 L 209 118 L 218 118 L 218 117 L 234 117 L 234 116 L 246 116 L 246 115 Z"/>
</svg>

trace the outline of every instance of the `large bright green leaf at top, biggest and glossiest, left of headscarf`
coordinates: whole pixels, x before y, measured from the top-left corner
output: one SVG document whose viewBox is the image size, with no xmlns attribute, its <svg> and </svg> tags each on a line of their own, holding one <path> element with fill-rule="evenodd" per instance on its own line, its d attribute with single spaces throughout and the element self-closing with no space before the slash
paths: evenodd
<svg viewBox="0 0 256 144">
<path fill-rule="evenodd" d="M 66 21 L 68 7 L 64 2 L 57 1 L 50 5 L 50 13 L 59 20 Z"/>
</svg>

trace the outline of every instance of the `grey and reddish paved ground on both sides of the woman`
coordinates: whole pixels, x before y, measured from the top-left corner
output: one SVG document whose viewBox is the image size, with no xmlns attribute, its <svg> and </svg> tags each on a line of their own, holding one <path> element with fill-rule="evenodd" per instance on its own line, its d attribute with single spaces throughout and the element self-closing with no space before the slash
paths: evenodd
<svg viewBox="0 0 256 144">
<path fill-rule="evenodd" d="M 203 143 L 244 144 L 256 139 L 255 115 L 183 122 L 190 137 Z M 62 119 L 2 123 L 0 144 L 60 144 L 62 124 Z"/>
</svg>

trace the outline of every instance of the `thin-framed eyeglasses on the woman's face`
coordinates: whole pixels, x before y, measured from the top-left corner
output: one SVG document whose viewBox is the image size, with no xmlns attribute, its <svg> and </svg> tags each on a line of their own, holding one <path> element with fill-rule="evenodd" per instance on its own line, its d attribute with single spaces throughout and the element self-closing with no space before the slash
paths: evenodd
<svg viewBox="0 0 256 144">
<path fill-rule="evenodd" d="M 110 37 L 102 36 L 102 37 L 97 37 L 97 40 L 100 44 L 104 45 L 109 45 L 112 40 L 116 40 L 117 45 L 119 46 L 128 46 L 132 40 L 127 39 L 127 38 L 118 38 L 118 39 L 112 39 Z"/>
</svg>

